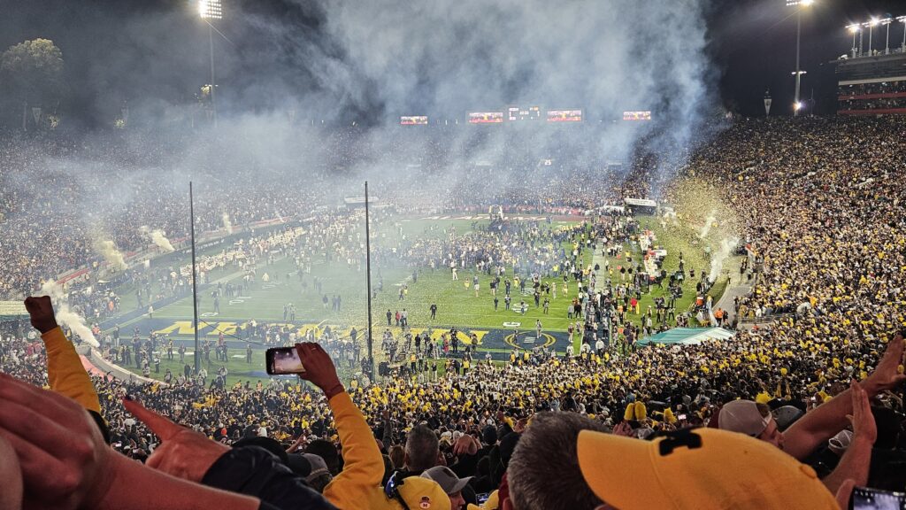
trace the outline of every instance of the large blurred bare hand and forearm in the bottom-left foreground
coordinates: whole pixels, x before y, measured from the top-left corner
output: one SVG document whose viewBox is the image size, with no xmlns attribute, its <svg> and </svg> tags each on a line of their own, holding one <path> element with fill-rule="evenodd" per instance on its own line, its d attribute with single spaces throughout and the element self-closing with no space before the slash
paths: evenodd
<svg viewBox="0 0 906 510">
<path fill-rule="evenodd" d="M 0 436 L 18 457 L 24 508 L 273 508 L 251 497 L 165 475 L 121 456 L 106 445 L 82 406 L 55 392 L 0 374 L 0 400 L 4 403 L 0 406 Z"/>
</svg>

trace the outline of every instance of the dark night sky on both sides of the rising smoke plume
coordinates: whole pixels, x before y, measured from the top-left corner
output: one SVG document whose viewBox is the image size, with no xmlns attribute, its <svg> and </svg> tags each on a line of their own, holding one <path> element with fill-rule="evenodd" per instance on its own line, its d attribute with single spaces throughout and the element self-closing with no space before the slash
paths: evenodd
<svg viewBox="0 0 906 510">
<path fill-rule="evenodd" d="M 651 1 L 652 9 L 658 1 Z M 605 2 L 602 2 L 604 5 Z M 225 0 L 227 19 L 217 26 L 218 82 L 241 95 L 229 98 L 236 109 L 255 111 L 278 103 L 275 94 L 308 93 L 325 85 L 310 70 L 285 62 L 289 46 L 267 29 L 270 22 L 297 27 L 326 55 L 342 59 L 341 50 L 321 34 L 320 8 L 289 0 Z M 229 12 L 246 13 L 230 18 Z M 191 101 L 198 83 L 206 83 L 207 27 L 188 0 L 0 0 L 0 49 L 25 39 L 52 39 L 63 50 L 71 94 L 66 108 L 85 125 L 100 125 L 124 102 Z M 836 57 L 849 51 L 852 36 L 845 25 L 872 16 L 906 15 L 901 1 L 816 0 L 803 15 L 802 85 L 805 99 L 816 100 L 816 113 L 834 112 Z M 708 7 L 708 52 L 719 73 L 715 101 L 744 115 L 762 115 L 762 97 L 770 89 L 774 114 L 788 114 L 793 103 L 795 7 L 784 0 L 715 0 Z M 875 47 L 883 47 L 878 27 Z M 901 44 L 902 25 L 892 25 L 892 45 Z M 866 37 L 867 40 L 867 37 Z M 880 44 L 879 44 L 880 42 Z M 413 44 L 418 44 L 413 41 Z M 670 41 L 652 41 L 670 44 Z M 867 43 L 866 43 L 867 44 Z M 256 92 L 254 83 L 273 80 L 275 89 Z M 247 85 L 247 86 L 243 86 Z M 351 118 L 387 115 L 380 101 L 368 97 L 343 113 Z"/>
</svg>

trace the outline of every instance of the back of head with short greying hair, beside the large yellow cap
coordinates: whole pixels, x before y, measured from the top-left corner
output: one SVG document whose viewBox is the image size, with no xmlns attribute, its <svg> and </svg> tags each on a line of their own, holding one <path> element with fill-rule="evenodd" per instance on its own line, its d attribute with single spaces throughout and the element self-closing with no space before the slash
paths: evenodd
<svg viewBox="0 0 906 510">
<path fill-rule="evenodd" d="M 576 441 L 583 430 L 606 430 L 576 413 L 540 413 L 532 418 L 507 468 L 506 510 L 573 510 L 602 504 L 582 476 Z"/>
</svg>

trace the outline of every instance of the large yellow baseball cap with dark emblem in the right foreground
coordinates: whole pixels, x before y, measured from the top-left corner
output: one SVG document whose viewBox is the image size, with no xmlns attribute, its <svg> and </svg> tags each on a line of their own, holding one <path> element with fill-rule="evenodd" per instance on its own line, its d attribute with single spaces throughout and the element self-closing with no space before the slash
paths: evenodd
<svg viewBox="0 0 906 510">
<path fill-rule="evenodd" d="M 578 456 L 594 494 L 620 510 L 839 510 L 814 469 L 736 432 L 696 428 L 642 441 L 583 430 Z"/>
</svg>

